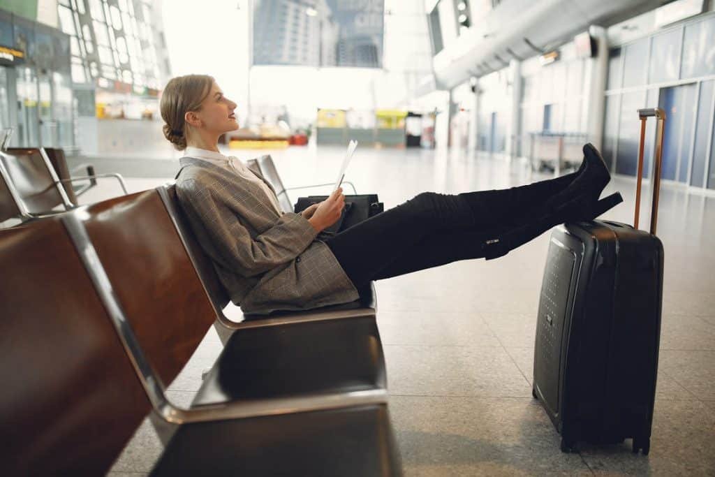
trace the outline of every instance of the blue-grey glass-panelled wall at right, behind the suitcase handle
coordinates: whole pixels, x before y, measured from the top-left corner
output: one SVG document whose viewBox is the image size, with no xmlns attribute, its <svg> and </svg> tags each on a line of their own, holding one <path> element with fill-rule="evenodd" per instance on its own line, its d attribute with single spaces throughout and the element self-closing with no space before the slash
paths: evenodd
<svg viewBox="0 0 715 477">
<path fill-rule="evenodd" d="M 609 51 L 603 154 L 635 175 L 638 107 L 666 110 L 662 178 L 715 189 L 715 16 L 710 14 Z M 648 124 L 644 175 L 655 122 Z"/>
</svg>

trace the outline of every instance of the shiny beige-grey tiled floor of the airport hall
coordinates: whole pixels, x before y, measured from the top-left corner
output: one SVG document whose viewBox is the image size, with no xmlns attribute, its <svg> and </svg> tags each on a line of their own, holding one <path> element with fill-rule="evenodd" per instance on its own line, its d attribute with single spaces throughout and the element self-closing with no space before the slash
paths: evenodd
<svg viewBox="0 0 715 477">
<path fill-rule="evenodd" d="M 315 149 L 275 152 L 287 187 L 334 180 L 342 149 L 317 156 Z M 379 192 L 385 207 L 423 190 L 457 193 L 541 178 L 521 164 L 460 152 L 360 148 L 348 172 L 359 192 Z M 129 185 L 140 190 L 161 182 Z M 606 192 L 613 190 L 626 203 L 605 217 L 632 222 L 634 183 L 616 177 Z M 649 223 L 648 215 L 641 223 Z M 649 456 L 631 454 L 628 441 L 563 454 L 558 433 L 531 398 L 548 233 L 499 260 L 378 282 L 390 414 L 405 475 L 715 475 L 715 197 L 664 187 L 658 232 L 666 251 L 664 313 Z M 172 383 L 172 398 L 189 403 L 219 352 L 211 330 Z M 110 475 L 147 473 L 160 452 L 144 423 Z"/>
</svg>

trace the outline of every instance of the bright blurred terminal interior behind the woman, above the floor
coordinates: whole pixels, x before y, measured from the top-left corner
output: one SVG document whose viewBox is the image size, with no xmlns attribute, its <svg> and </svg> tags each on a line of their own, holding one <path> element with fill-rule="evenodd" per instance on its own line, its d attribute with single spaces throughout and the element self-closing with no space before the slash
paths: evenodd
<svg viewBox="0 0 715 477">
<path fill-rule="evenodd" d="M 238 104 L 240 129 L 221 142 L 243 158 L 357 139 L 360 149 L 459 149 L 560 172 L 593 142 L 613 172 L 633 176 L 638 125 L 623 119 L 659 105 L 670 119 L 665 184 L 715 190 L 713 9 L 709 0 L 2 0 L 0 128 L 14 128 L 11 146 L 61 147 L 70 163 L 164 177 L 161 159 L 181 153 L 161 133 L 162 87 L 202 73 Z"/>
</svg>

